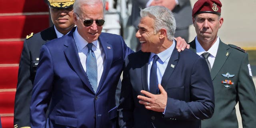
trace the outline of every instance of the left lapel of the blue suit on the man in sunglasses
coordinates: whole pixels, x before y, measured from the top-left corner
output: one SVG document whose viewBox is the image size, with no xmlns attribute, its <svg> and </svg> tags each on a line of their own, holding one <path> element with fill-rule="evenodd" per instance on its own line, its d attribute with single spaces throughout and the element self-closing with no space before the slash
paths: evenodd
<svg viewBox="0 0 256 128">
<path fill-rule="evenodd" d="M 82 64 L 80 63 L 80 58 L 78 56 L 78 51 L 76 48 L 76 44 L 73 37 L 73 32 L 70 32 L 69 37 L 65 39 L 64 46 L 66 49 L 64 50 L 64 54 L 66 55 L 68 62 L 71 64 L 74 71 L 78 74 L 82 82 L 94 93 L 92 86 L 88 80 L 88 77 L 86 73 L 84 72 L 84 69 L 82 67 Z"/>
</svg>

